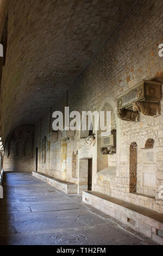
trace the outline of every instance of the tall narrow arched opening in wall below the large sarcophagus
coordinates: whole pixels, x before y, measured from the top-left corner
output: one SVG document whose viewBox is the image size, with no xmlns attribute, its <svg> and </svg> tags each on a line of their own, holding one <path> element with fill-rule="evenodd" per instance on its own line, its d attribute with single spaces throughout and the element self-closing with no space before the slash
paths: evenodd
<svg viewBox="0 0 163 256">
<path fill-rule="evenodd" d="M 137 185 L 137 144 L 133 142 L 130 144 L 130 166 L 129 166 L 129 192 L 136 193 L 136 185 Z"/>
</svg>

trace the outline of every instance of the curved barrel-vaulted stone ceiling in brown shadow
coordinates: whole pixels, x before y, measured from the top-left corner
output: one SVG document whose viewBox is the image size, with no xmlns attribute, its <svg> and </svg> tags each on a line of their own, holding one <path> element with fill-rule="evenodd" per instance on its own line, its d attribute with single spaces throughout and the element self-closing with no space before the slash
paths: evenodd
<svg viewBox="0 0 163 256">
<path fill-rule="evenodd" d="M 72 86 L 136 0 L 10 0 L 2 133 L 34 124 Z"/>
</svg>

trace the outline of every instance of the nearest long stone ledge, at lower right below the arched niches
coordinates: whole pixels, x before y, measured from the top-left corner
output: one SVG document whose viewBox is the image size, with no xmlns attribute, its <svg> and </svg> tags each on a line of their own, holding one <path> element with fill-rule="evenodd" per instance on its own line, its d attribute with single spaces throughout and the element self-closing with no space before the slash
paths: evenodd
<svg viewBox="0 0 163 256">
<path fill-rule="evenodd" d="M 163 231 L 163 214 L 95 191 L 83 191 L 83 202 L 163 245 L 162 237 L 156 235 L 156 230 Z"/>
</svg>

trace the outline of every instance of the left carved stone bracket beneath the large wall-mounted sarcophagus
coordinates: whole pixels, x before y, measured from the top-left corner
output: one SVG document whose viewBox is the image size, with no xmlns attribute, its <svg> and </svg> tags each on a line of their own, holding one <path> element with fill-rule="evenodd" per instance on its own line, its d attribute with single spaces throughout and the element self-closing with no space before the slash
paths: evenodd
<svg viewBox="0 0 163 256">
<path fill-rule="evenodd" d="M 139 121 L 139 112 L 134 112 L 128 109 L 118 109 L 117 117 L 124 121 Z"/>
</svg>

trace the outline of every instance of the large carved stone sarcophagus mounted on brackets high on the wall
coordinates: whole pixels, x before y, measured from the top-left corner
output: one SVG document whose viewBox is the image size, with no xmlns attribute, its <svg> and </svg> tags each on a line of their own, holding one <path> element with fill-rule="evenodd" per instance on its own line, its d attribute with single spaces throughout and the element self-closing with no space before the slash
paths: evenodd
<svg viewBox="0 0 163 256">
<path fill-rule="evenodd" d="M 161 83 L 143 80 L 117 97 L 117 115 L 122 120 L 139 121 L 145 115 L 160 114 Z"/>
</svg>

